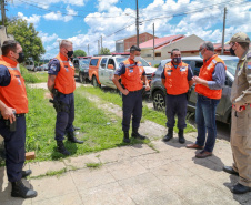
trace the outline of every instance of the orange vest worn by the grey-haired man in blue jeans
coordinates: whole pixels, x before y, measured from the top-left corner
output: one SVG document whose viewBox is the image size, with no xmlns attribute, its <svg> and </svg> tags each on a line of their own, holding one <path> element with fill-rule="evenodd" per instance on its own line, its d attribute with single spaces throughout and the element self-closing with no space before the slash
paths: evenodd
<svg viewBox="0 0 251 205">
<path fill-rule="evenodd" d="M 205 80 L 205 81 L 212 81 L 212 73 L 214 71 L 214 68 L 217 63 L 223 63 L 224 61 L 221 60 L 218 54 L 214 54 L 211 57 L 208 61 L 204 60 L 203 65 L 200 69 L 199 78 Z M 227 70 L 227 66 L 224 64 L 224 68 Z M 197 84 L 195 85 L 195 92 L 199 94 L 202 94 L 209 99 L 221 99 L 222 89 L 221 90 L 210 90 L 209 88 Z"/>
</svg>

